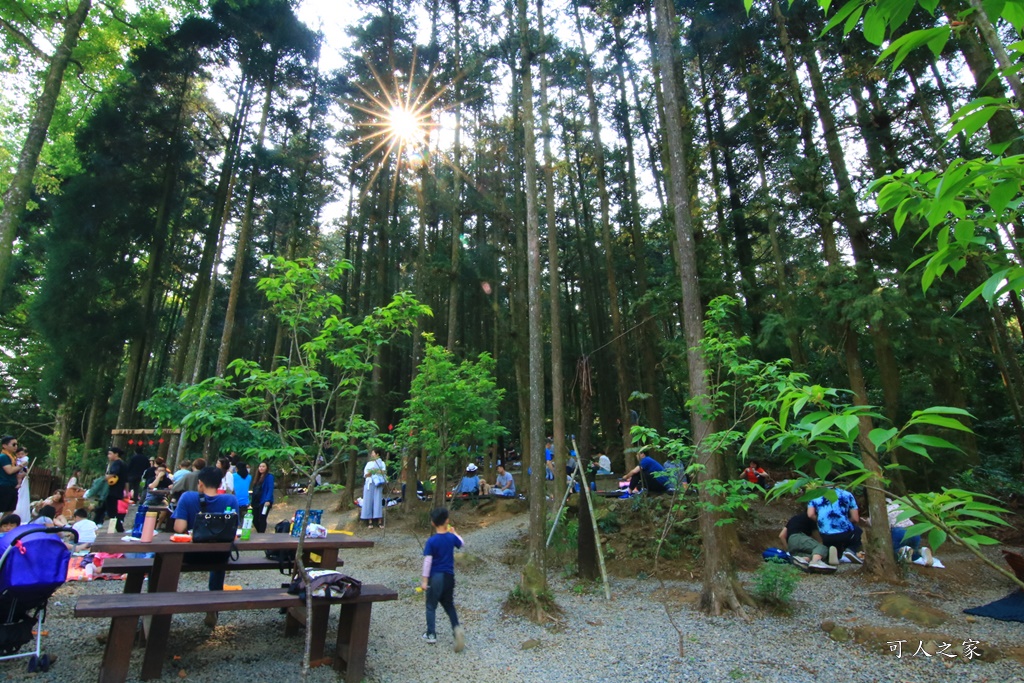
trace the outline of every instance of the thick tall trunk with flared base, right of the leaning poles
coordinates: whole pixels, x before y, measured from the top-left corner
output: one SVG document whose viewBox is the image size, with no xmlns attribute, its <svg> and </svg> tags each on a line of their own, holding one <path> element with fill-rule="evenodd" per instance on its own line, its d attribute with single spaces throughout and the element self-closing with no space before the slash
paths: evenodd
<svg viewBox="0 0 1024 683">
<path fill-rule="evenodd" d="M 700 310 L 700 289 L 697 278 L 696 248 L 693 240 L 693 224 L 690 215 L 690 193 L 687 179 L 687 160 L 683 143 L 682 104 L 679 87 L 675 79 L 676 25 L 672 18 L 669 0 L 655 0 L 654 11 L 657 20 L 657 58 L 662 66 L 662 87 L 665 96 L 666 139 L 671 168 L 669 197 L 672 200 L 676 242 L 679 258 L 679 274 L 683 288 L 683 328 L 686 337 L 686 360 L 689 378 L 690 399 L 694 401 L 690 411 L 693 442 L 696 445 L 696 461 L 705 470 L 699 479 L 700 502 L 706 506 L 699 517 L 700 535 L 703 540 L 703 590 L 700 595 L 702 609 L 720 614 L 723 609 L 743 611 L 743 603 L 753 601 L 746 595 L 736 577 L 733 550 L 736 533 L 732 525 L 719 525 L 721 514 L 710 506 L 720 503 L 713 496 L 712 481 L 720 481 L 724 476 L 722 455 L 709 447 L 714 425 L 709 419 L 707 405 L 708 374 L 707 362 L 700 353 L 703 336 Z"/>
</svg>

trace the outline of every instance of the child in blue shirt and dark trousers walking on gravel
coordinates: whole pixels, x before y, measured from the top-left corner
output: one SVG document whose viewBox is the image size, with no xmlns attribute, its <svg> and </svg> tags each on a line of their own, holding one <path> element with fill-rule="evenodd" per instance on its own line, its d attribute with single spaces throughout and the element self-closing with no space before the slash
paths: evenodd
<svg viewBox="0 0 1024 683">
<path fill-rule="evenodd" d="M 462 537 L 449 526 L 446 508 L 433 510 L 430 522 L 434 535 L 423 546 L 423 575 L 420 580 L 420 588 L 427 594 L 427 632 L 423 634 L 423 639 L 430 645 L 437 642 L 434 623 L 439 602 L 452 622 L 455 651 L 462 652 L 466 647 L 466 634 L 455 611 L 455 549 L 462 548 Z"/>
</svg>

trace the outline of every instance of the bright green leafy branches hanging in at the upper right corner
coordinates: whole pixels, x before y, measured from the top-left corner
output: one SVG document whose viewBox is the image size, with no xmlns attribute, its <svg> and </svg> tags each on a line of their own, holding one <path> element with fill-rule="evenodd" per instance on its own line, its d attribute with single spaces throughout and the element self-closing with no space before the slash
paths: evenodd
<svg viewBox="0 0 1024 683">
<path fill-rule="evenodd" d="M 831 0 L 818 0 L 827 13 Z M 895 71 L 913 50 L 927 45 L 936 56 L 942 51 L 959 22 L 899 34 L 915 6 L 934 14 L 937 0 L 850 0 L 840 7 L 822 33 L 843 26 L 849 35 L 863 16 L 864 38 L 882 45 L 887 34 L 892 39 L 879 61 L 893 57 Z M 963 16 L 973 12 L 964 11 Z M 1005 19 L 1020 35 L 1024 28 L 1024 2 L 985 3 L 994 24 Z M 1007 46 L 1011 67 L 1020 71 L 1024 41 Z M 998 72 L 1002 74 L 1002 70 Z M 1009 74 L 1007 74 L 1009 75 Z M 946 139 L 958 135 L 972 138 L 998 112 L 1016 112 L 1019 103 L 1000 97 L 977 97 L 959 108 L 949 121 Z M 989 305 L 1007 292 L 1024 290 L 1024 267 L 1019 265 L 1014 246 L 1008 246 L 1000 231 L 1017 222 L 1024 195 L 1024 156 L 1007 155 L 1011 140 L 989 145 L 989 155 L 976 159 L 957 158 L 945 169 L 897 171 L 874 181 L 879 211 L 892 211 L 896 230 L 910 230 L 920 245 L 928 241 L 930 251 L 911 267 L 921 266 L 922 288 L 927 292 L 936 279 L 947 271 L 959 272 L 973 260 L 987 266 L 984 282 L 961 303 L 964 307 L 981 297 Z M 1012 242 L 1012 240 L 1011 240 Z"/>
</svg>

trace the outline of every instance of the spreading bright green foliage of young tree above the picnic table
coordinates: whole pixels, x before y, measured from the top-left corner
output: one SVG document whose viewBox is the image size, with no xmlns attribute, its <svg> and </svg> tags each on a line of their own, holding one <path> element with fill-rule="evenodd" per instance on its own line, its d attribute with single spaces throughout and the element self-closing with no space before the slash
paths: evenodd
<svg viewBox="0 0 1024 683">
<path fill-rule="evenodd" d="M 288 332 L 289 355 L 270 370 L 236 360 L 227 378 L 165 388 L 146 410 L 158 420 L 176 421 L 190 437 L 209 436 L 247 455 L 288 462 L 311 478 L 376 432 L 357 413 L 366 377 L 379 347 L 409 334 L 430 309 L 399 293 L 353 321 L 341 315 L 342 300 L 332 291 L 351 264 L 323 269 L 310 259 L 283 258 L 272 264 L 274 273 L 260 280 L 259 289 Z"/>
</svg>

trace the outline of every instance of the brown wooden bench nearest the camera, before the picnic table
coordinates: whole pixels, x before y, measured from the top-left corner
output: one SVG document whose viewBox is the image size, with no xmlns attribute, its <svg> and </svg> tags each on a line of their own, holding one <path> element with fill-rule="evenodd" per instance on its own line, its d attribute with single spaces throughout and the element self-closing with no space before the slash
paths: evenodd
<svg viewBox="0 0 1024 683">
<path fill-rule="evenodd" d="M 304 620 L 305 603 L 284 588 L 223 592 L 135 593 L 122 594 L 116 598 L 110 595 L 83 595 L 75 605 L 75 616 L 111 620 L 103 661 L 99 669 L 99 682 L 123 683 L 128 678 L 131 648 L 140 616 L 285 607 L 289 609 L 286 635 L 296 633 L 305 621 L 312 633 L 310 661 L 318 666 L 329 661 L 324 657 L 324 648 L 330 607 L 340 604 L 343 607 L 338 620 L 334 668 L 339 672 L 345 672 L 347 683 L 358 683 L 366 671 L 373 603 L 397 599 L 398 593 L 386 586 L 365 584 L 359 595 L 354 598 L 313 598 L 312 618 Z M 143 678 L 147 678 L 144 673 Z"/>
</svg>

